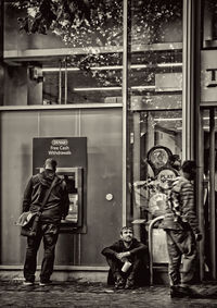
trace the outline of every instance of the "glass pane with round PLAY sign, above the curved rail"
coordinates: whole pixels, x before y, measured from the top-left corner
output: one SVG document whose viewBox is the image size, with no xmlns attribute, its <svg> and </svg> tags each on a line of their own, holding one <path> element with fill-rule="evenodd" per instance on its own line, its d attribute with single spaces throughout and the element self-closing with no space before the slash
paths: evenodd
<svg viewBox="0 0 217 308">
<path fill-rule="evenodd" d="M 163 198 L 168 181 L 179 173 L 181 161 L 181 111 L 150 111 L 133 115 L 133 194 L 135 207 L 141 210 L 141 218 L 159 215 L 150 204 Z M 163 172 L 164 171 L 164 172 Z M 161 202 L 159 202 L 161 204 Z M 156 206 L 157 208 L 157 206 Z"/>
</svg>

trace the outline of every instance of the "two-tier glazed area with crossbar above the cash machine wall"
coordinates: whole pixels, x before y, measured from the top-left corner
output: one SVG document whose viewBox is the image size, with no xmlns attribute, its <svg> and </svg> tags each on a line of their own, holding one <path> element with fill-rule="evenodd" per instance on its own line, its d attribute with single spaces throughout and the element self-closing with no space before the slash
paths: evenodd
<svg viewBox="0 0 217 308">
<path fill-rule="evenodd" d="M 123 1 L 79 2 L 5 3 L 4 104 L 122 103 Z"/>
</svg>

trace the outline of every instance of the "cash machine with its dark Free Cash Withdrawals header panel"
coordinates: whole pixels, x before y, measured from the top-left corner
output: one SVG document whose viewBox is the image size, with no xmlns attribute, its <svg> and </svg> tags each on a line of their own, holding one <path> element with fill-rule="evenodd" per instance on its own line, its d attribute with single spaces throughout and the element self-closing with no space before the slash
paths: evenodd
<svg viewBox="0 0 217 308">
<path fill-rule="evenodd" d="M 87 137 L 33 138 L 33 174 L 43 171 L 47 158 L 56 160 L 56 174 L 65 180 L 69 212 L 61 222 L 62 233 L 87 232 Z"/>
</svg>

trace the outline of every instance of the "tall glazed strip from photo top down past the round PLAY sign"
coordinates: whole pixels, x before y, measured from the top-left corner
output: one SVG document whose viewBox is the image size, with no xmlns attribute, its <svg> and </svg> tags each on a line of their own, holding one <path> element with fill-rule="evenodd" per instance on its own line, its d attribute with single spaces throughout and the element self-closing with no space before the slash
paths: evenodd
<svg viewBox="0 0 217 308">
<path fill-rule="evenodd" d="M 163 213 L 182 158 L 182 1 L 135 0 L 131 16 L 128 220 L 143 223 Z"/>
</svg>

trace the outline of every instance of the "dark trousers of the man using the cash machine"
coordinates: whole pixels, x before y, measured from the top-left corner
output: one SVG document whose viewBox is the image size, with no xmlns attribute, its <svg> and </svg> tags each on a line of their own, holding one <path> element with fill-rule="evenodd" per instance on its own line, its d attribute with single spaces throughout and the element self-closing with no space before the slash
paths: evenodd
<svg viewBox="0 0 217 308">
<path fill-rule="evenodd" d="M 59 237 L 59 227 L 52 223 L 41 223 L 36 237 L 27 237 L 26 260 L 24 264 L 24 278 L 26 281 L 35 281 L 37 268 L 37 251 L 43 238 L 43 260 L 41 264 L 40 281 L 48 282 L 53 272 L 55 244 Z"/>
</svg>

